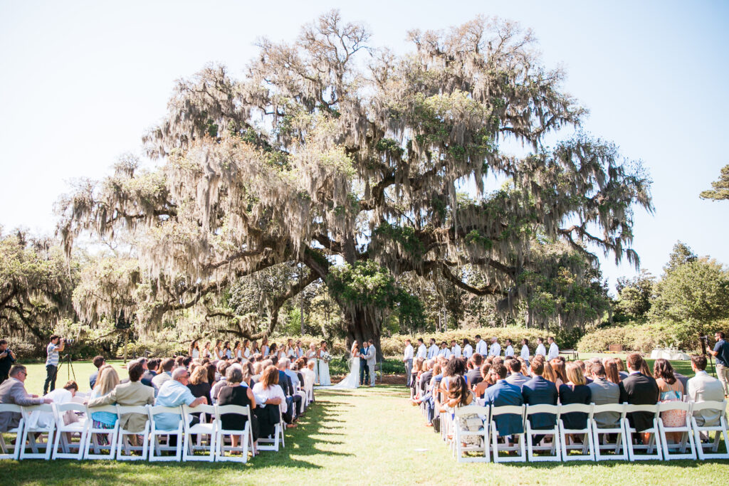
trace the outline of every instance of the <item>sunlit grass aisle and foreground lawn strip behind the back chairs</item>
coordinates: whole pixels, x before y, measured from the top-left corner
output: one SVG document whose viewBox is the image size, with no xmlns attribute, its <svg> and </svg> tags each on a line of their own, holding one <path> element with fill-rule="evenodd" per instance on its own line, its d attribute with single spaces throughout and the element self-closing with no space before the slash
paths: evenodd
<svg viewBox="0 0 729 486">
<path fill-rule="evenodd" d="M 316 391 L 316 404 L 286 432 L 286 448 L 248 464 L 0 461 L 23 485 L 726 484 L 728 461 L 456 463 L 404 386 Z"/>
</svg>

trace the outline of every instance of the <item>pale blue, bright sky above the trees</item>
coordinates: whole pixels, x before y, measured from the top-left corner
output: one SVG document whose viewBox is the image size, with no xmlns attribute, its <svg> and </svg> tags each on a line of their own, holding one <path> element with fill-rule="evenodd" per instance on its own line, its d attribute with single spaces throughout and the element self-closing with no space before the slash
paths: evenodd
<svg viewBox="0 0 729 486">
<path fill-rule="evenodd" d="M 660 275 L 679 239 L 729 264 L 729 202 L 698 198 L 729 163 L 725 1 L 0 0 L 0 225 L 52 232 L 68 181 L 139 152 L 175 79 L 209 61 L 241 74 L 255 39 L 294 39 L 332 7 L 399 52 L 412 28 L 477 14 L 532 28 L 545 64 L 564 66 L 565 89 L 590 109 L 585 130 L 650 170 L 656 211 L 635 225 L 642 267 Z M 602 268 L 612 283 L 634 275 Z"/>
</svg>

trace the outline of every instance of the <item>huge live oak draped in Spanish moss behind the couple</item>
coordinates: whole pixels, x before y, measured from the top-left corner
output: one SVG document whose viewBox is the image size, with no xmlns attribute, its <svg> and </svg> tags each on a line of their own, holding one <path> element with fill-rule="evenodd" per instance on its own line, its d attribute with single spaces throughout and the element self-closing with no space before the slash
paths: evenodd
<svg viewBox="0 0 729 486">
<path fill-rule="evenodd" d="M 650 180 L 613 144 L 574 134 L 586 110 L 562 90 L 563 72 L 542 66 L 531 31 L 477 17 L 408 38 L 406 55 L 375 49 L 333 11 L 291 44 L 262 39 L 240 79 L 208 66 L 180 80 L 144 136 L 163 164 L 120 162 L 64 198 L 66 247 L 79 232 L 133 232 L 155 302 L 138 318 L 150 323 L 301 263 L 305 273 L 262 297 L 268 325 L 242 334 L 270 333 L 278 307 L 322 279 L 350 340 L 377 341 L 402 273 L 507 308 L 529 295 L 523 274 L 547 264 L 531 257 L 539 238 L 594 264 L 590 249 L 638 263 L 633 209 L 652 211 Z M 531 152 L 502 152 L 509 139 Z M 487 190 L 488 177 L 501 189 Z M 482 285 L 459 277 L 465 264 Z"/>
</svg>

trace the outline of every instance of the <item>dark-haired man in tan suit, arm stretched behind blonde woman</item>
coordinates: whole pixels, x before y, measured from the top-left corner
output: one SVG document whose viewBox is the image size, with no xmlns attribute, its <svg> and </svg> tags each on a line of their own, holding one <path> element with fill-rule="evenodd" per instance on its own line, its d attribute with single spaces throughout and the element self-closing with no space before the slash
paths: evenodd
<svg viewBox="0 0 729 486">
<path fill-rule="evenodd" d="M 139 379 L 144 374 L 144 367 L 139 361 L 129 364 L 129 381 L 120 383 L 111 393 L 92 399 L 88 402 L 89 407 L 101 407 L 102 405 L 152 405 L 155 403 L 155 389 L 143 385 Z M 147 423 L 147 415 L 141 413 L 127 413 L 121 416 L 119 426 L 130 432 L 144 431 Z"/>
</svg>

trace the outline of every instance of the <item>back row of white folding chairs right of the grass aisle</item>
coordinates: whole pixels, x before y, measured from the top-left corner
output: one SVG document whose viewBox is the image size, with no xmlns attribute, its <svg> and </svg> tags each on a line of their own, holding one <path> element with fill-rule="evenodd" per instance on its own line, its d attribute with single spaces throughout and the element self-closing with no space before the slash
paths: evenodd
<svg viewBox="0 0 729 486">
<path fill-rule="evenodd" d="M 679 410 L 685 412 L 685 423 L 681 426 L 666 426 L 660 418 L 661 412 Z M 451 446 L 453 455 L 459 462 L 488 462 L 490 455 L 494 462 L 568 461 L 568 460 L 675 460 L 675 459 L 729 459 L 729 431 L 726 418 L 726 401 L 683 402 L 669 401 L 655 405 L 631 404 L 569 404 L 569 405 L 521 405 L 481 407 L 469 405 L 456 409 L 454 416 L 442 415 L 445 440 Z M 714 425 L 698 425 L 694 412 L 714 411 L 718 415 Z M 581 412 L 588 416 L 587 427 L 569 429 L 564 426 L 562 416 L 570 412 Z M 637 432 L 630 426 L 627 415 L 633 412 L 647 412 L 653 415 L 652 426 Z M 537 413 L 555 415 L 555 426 L 549 429 L 531 428 L 529 418 Z M 615 426 L 599 428 L 594 416 L 612 413 L 619 417 Z M 519 415 L 523 426 L 522 434 L 514 434 L 504 442 L 499 442 L 499 432 L 494 418 L 499 415 Z M 465 430 L 459 426 L 459 417 L 478 415 L 483 420 L 483 428 L 478 431 Z M 650 440 L 634 444 L 637 434 L 648 433 Z M 667 434 L 681 434 L 677 443 L 669 442 Z M 714 433 L 714 441 L 704 443 L 701 434 Z M 615 442 L 607 440 L 608 434 L 615 436 Z M 582 436 L 582 442 L 571 442 L 569 436 Z M 551 436 L 551 442 L 542 444 L 534 441 L 534 436 Z M 601 437 L 603 436 L 603 440 Z M 478 444 L 464 445 L 468 437 L 480 439 Z M 503 438 L 502 438 L 503 439 Z M 489 444 L 491 442 L 491 444 Z M 725 451 L 719 452 L 720 443 Z M 570 451 L 580 450 L 579 454 Z M 612 451 L 612 453 L 608 453 Z M 478 452 L 478 456 L 464 457 L 464 452 Z M 516 452 L 516 455 L 499 455 L 501 452 Z M 548 452 L 537 455 L 537 452 Z"/>
</svg>

